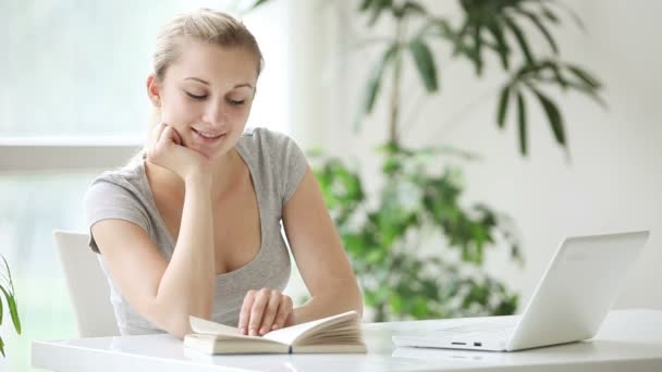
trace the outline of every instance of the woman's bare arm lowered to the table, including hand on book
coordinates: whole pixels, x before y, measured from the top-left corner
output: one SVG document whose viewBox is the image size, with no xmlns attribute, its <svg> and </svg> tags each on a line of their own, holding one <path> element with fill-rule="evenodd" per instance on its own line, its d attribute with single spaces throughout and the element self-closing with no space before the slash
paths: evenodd
<svg viewBox="0 0 662 372">
<path fill-rule="evenodd" d="M 249 290 L 240 313 L 240 331 L 263 335 L 348 310 L 363 313 L 360 289 L 310 169 L 283 208 L 283 224 L 312 298 L 293 309 L 292 299 L 279 290 Z"/>
</svg>

